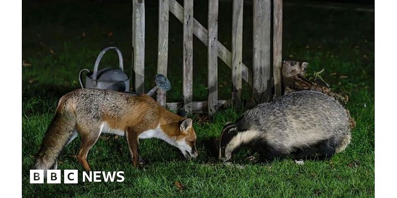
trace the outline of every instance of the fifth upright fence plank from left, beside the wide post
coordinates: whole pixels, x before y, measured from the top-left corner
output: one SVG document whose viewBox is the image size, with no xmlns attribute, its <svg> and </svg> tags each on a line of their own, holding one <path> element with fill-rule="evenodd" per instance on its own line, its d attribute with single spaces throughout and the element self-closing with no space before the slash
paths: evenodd
<svg viewBox="0 0 397 198">
<path fill-rule="evenodd" d="M 243 0 L 233 0 L 232 11 L 232 104 L 241 106 L 243 57 Z"/>
</svg>

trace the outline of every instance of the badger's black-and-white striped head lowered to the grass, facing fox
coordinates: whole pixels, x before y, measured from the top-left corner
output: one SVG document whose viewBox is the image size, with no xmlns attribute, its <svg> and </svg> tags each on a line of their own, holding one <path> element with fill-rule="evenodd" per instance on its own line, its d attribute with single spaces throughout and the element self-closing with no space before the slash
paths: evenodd
<svg viewBox="0 0 397 198">
<path fill-rule="evenodd" d="M 257 131 L 242 131 L 238 130 L 237 124 L 226 124 L 219 138 L 219 159 L 223 162 L 229 160 L 233 151 L 241 145 L 251 142 L 257 135 Z"/>
</svg>

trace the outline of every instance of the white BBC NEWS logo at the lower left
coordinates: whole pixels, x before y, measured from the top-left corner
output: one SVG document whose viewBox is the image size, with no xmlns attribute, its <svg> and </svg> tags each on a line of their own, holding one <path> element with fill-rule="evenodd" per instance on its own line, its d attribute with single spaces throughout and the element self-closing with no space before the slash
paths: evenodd
<svg viewBox="0 0 397 198">
<path fill-rule="evenodd" d="M 78 170 L 64 170 L 64 184 L 77 184 L 78 183 Z M 62 174 L 61 170 L 47 170 L 47 175 L 44 175 L 44 170 L 30 170 L 30 183 L 31 184 L 61 184 Z M 82 172 L 83 182 L 124 182 L 124 171 L 89 171 Z"/>
</svg>

